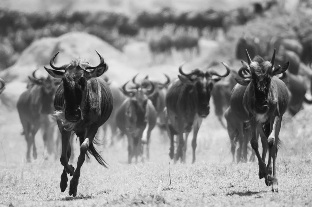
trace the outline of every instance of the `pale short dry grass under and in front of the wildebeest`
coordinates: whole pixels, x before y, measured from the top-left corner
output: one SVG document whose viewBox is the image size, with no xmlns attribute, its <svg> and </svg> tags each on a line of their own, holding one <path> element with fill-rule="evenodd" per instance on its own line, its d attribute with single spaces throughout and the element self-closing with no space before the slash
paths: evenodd
<svg viewBox="0 0 312 207">
<path fill-rule="evenodd" d="M 310 118 L 311 109 L 306 106 L 292 120 L 286 115 L 277 158 L 279 193 L 272 193 L 271 187 L 267 187 L 263 179 L 259 180 L 257 162 L 231 163 L 227 132 L 212 113 L 200 128 L 195 164 L 190 164 L 190 139 L 187 163 L 173 164 L 168 156 L 168 139 L 155 128 L 151 158 L 145 163 L 127 164 L 124 140 L 113 147 L 98 146 L 109 169 L 93 158 L 90 163 L 85 162 L 75 198 L 68 195 L 68 188 L 61 193 L 62 166 L 53 156 L 43 159 L 40 134 L 36 137 L 38 159 L 25 162 L 26 142 L 19 134 L 17 114 L 12 112 L 2 120 L 5 123 L 1 128 L 0 203 L 11 206 L 311 206 L 311 138 L 310 129 L 304 124 Z M 77 143 L 74 150 L 76 166 Z"/>
</svg>

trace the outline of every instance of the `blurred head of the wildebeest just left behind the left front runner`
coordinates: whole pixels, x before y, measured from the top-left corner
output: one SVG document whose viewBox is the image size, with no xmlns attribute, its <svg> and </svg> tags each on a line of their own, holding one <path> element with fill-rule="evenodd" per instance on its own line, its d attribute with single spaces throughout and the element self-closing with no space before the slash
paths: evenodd
<svg viewBox="0 0 312 207">
<path fill-rule="evenodd" d="M 41 113 L 49 114 L 53 112 L 53 102 L 58 85 L 61 83 L 58 79 L 52 78 L 50 75 L 48 77 L 37 77 L 36 69 L 32 72 L 32 76 L 28 76 L 31 84 L 27 88 L 32 87 L 32 85 L 40 86 L 40 94 L 36 94 L 41 98 Z"/>
</svg>

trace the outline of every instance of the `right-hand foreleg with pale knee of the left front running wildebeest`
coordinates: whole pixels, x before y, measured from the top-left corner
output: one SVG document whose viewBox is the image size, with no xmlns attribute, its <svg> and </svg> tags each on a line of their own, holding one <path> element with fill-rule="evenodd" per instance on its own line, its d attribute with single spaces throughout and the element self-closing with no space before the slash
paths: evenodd
<svg viewBox="0 0 312 207">
<path fill-rule="evenodd" d="M 73 178 L 71 179 L 69 192 L 68 192 L 69 195 L 73 195 L 74 197 L 77 194 L 77 187 L 78 187 L 79 177 L 80 177 L 80 169 L 81 169 L 82 164 L 85 161 L 85 154 L 87 153 L 87 150 L 89 149 L 90 143 L 93 142 L 97 129 L 98 129 L 97 126 L 88 128 L 85 132 L 85 136 L 84 136 L 85 139 L 80 146 L 80 155 L 77 161 L 77 168 L 75 172 L 73 173 Z M 81 137 L 79 137 L 79 139 L 80 138 Z"/>
</svg>

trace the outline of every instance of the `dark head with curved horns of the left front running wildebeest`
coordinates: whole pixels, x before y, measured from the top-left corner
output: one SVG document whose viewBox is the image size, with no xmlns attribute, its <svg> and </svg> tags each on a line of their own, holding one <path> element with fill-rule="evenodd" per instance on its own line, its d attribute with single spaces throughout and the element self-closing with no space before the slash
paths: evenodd
<svg viewBox="0 0 312 207">
<path fill-rule="evenodd" d="M 102 75 L 108 69 L 108 66 L 104 62 L 102 55 L 96 51 L 100 57 L 100 64 L 97 66 L 91 66 L 88 62 L 75 58 L 70 64 L 56 67 L 54 59 L 58 53 L 50 60 L 50 66 L 54 70 L 46 67 L 45 69 L 54 78 L 62 79 L 64 85 L 65 118 L 70 122 L 77 122 L 82 118 L 81 107 L 86 96 L 87 81 Z M 64 70 L 64 72 L 59 70 Z"/>
</svg>

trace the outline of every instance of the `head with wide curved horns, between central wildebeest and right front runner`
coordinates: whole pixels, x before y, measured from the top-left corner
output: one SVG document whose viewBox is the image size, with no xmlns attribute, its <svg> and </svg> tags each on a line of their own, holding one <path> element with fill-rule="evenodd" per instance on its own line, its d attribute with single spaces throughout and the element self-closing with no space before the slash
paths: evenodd
<svg viewBox="0 0 312 207">
<path fill-rule="evenodd" d="M 184 62 L 183 62 L 184 63 Z M 224 75 L 220 75 L 213 70 L 208 70 L 206 72 L 199 70 L 198 68 L 192 70 L 191 73 L 186 74 L 182 71 L 182 65 L 179 67 L 179 72 L 181 75 L 178 75 L 178 78 L 182 83 L 186 84 L 187 87 L 190 87 L 190 94 L 194 95 L 194 102 L 197 105 L 197 113 L 200 117 L 207 117 L 209 114 L 209 101 L 211 96 L 211 91 L 213 85 L 221 79 L 221 77 L 226 77 L 230 74 L 229 67 L 226 66 L 227 72 Z"/>
</svg>

